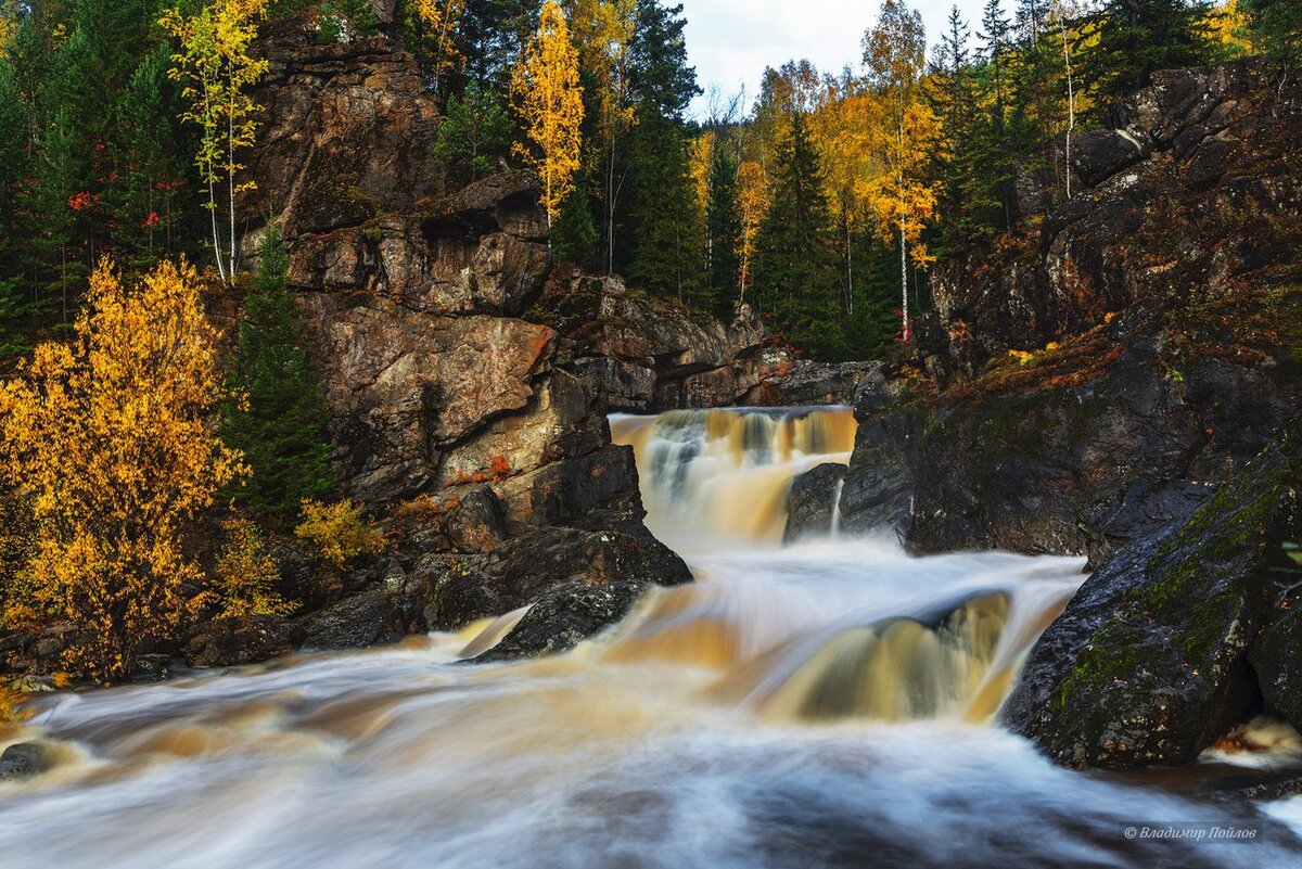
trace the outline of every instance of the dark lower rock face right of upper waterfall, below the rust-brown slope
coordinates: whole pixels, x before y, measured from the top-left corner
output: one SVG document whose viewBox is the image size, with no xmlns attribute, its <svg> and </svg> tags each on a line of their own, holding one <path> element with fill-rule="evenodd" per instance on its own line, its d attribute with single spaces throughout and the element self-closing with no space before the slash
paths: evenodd
<svg viewBox="0 0 1302 869">
<path fill-rule="evenodd" d="M 1258 312 L 1260 314 L 1260 312 Z M 976 381 L 861 390 L 845 527 L 914 549 L 1107 554 L 1180 522 L 1302 401 L 1282 346 L 1199 358 L 1137 311 Z"/>
</svg>

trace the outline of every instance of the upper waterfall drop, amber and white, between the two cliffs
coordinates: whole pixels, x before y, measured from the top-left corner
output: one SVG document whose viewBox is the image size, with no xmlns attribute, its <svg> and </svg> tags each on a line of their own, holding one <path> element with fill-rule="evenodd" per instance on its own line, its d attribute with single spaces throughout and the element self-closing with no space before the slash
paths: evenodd
<svg viewBox="0 0 1302 869">
<path fill-rule="evenodd" d="M 848 463 L 857 428 L 849 407 L 611 418 L 615 442 L 637 454 L 647 527 L 680 553 L 780 545 L 792 480 Z"/>
</svg>

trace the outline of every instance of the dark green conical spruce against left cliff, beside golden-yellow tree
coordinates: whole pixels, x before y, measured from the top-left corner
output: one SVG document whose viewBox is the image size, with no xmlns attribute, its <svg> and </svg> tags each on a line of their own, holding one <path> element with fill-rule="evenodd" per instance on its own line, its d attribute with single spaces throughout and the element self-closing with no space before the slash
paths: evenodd
<svg viewBox="0 0 1302 869">
<path fill-rule="evenodd" d="M 307 341 L 289 290 L 280 233 L 268 228 L 254 287 L 245 299 L 238 353 L 221 438 L 241 450 L 253 476 L 236 493 L 250 514 L 290 523 L 305 498 L 335 485 L 328 416 Z"/>
</svg>

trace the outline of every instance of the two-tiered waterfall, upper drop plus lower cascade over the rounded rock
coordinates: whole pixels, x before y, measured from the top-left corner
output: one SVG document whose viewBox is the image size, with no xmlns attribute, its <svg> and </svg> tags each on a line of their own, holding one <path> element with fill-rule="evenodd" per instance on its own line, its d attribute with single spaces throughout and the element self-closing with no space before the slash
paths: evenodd
<svg viewBox="0 0 1302 869">
<path fill-rule="evenodd" d="M 849 462 L 855 421 L 846 407 L 738 408 L 615 416 L 611 428 L 637 453 L 647 526 L 690 555 L 721 544 L 777 548 L 792 480 L 815 464 Z M 608 657 L 719 667 L 717 696 L 764 718 L 988 721 L 1083 579 L 1077 565 L 1064 561 L 1061 576 L 1035 580 L 1040 562 L 1008 563 L 1000 575 L 979 572 L 982 585 L 967 572 L 949 584 L 935 570 L 944 559 L 905 558 L 893 541 L 837 548 L 842 485 L 832 492 L 822 548 L 763 555 L 743 583 L 716 580 L 712 557 L 695 558 L 702 582 L 654 596 Z M 827 559 L 835 552 L 857 557 Z M 807 584 L 766 582 L 775 562 L 802 558 L 836 588 L 810 601 Z M 883 609 L 891 593 L 883 585 L 919 566 L 934 572 L 926 592 Z"/>
</svg>

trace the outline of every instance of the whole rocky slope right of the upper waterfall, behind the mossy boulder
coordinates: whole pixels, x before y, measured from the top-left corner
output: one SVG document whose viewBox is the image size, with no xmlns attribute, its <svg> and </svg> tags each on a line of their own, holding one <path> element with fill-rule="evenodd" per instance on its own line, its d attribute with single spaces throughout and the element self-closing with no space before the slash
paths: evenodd
<svg viewBox="0 0 1302 869">
<path fill-rule="evenodd" d="M 937 265 L 956 376 L 861 406 L 846 527 L 1098 565 L 1256 455 L 1302 402 L 1302 100 L 1263 75 L 1159 73 L 1074 140 L 1072 200 Z"/>
</svg>

